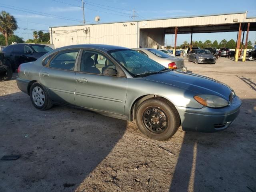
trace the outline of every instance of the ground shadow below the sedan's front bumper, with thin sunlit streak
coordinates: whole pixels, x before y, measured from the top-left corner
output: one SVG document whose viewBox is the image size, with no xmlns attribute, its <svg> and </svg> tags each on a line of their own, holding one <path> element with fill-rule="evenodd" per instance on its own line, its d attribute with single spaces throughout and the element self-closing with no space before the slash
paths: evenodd
<svg viewBox="0 0 256 192">
<path fill-rule="evenodd" d="M 255 124 L 256 99 L 248 99 L 242 100 L 234 124 L 221 134 L 186 132 L 169 191 L 256 191 L 256 155 L 248 150 L 255 148 L 255 140 L 247 136 L 256 134 Z"/>
</svg>

